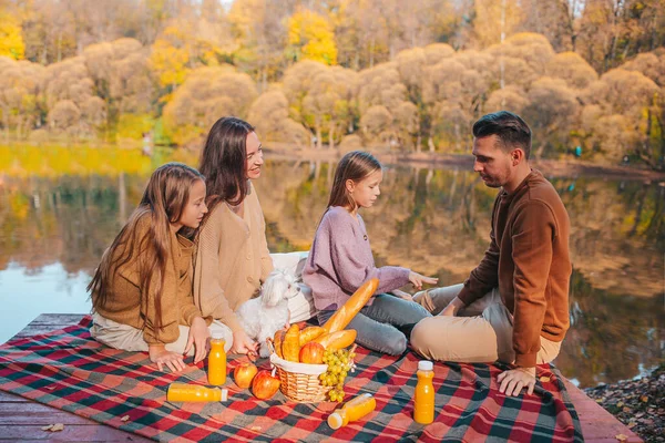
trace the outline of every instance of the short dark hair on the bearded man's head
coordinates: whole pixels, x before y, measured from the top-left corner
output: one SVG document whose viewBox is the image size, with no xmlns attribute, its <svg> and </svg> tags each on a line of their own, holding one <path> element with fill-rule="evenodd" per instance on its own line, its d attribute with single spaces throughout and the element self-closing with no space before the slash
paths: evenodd
<svg viewBox="0 0 665 443">
<path fill-rule="evenodd" d="M 499 111 L 480 117 L 473 124 L 473 136 L 482 138 L 490 135 L 497 135 L 501 150 L 510 152 L 515 147 L 520 147 L 524 151 L 524 156 L 529 158 L 531 154 L 531 128 L 518 114 Z"/>
</svg>

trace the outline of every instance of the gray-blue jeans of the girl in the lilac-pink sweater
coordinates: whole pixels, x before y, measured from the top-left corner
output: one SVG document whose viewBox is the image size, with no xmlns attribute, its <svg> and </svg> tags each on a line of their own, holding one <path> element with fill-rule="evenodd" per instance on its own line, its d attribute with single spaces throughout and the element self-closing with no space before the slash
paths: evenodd
<svg viewBox="0 0 665 443">
<path fill-rule="evenodd" d="M 335 311 L 319 311 L 319 323 L 325 323 Z M 360 309 L 346 329 L 358 332 L 356 342 L 372 351 L 400 356 L 407 350 L 407 336 L 398 328 L 408 329 L 431 317 L 422 306 L 388 293 L 376 296 L 370 306 Z"/>
</svg>

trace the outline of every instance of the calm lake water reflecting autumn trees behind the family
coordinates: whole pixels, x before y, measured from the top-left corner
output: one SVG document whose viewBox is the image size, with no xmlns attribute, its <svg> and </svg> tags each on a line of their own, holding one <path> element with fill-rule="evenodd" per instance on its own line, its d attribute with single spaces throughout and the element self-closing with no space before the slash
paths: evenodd
<svg viewBox="0 0 665 443">
<path fill-rule="evenodd" d="M 255 182 L 272 251 L 309 248 L 334 163 L 270 161 Z M 90 310 L 85 286 L 150 173 L 192 153 L 0 147 L 0 342 L 42 312 Z M 548 172 L 545 171 L 545 175 Z M 553 177 L 571 217 L 571 329 L 555 360 L 580 387 L 632 379 L 665 350 L 665 187 Z M 379 265 L 462 282 L 489 241 L 497 189 L 468 167 L 387 165 L 364 213 Z"/>
</svg>

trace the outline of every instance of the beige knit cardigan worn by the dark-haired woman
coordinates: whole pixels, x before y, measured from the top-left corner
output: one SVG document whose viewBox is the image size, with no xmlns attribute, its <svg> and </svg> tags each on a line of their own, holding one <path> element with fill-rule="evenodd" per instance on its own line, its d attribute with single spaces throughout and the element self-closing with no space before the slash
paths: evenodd
<svg viewBox="0 0 665 443">
<path fill-rule="evenodd" d="M 244 202 L 244 218 L 224 202 L 217 204 L 203 226 L 194 267 L 194 302 L 203 317 L 242 327 L 235 311 L 255 297 L 273 270 L 266 241 L 266 224 L 254 190 Z"/>
</svg>

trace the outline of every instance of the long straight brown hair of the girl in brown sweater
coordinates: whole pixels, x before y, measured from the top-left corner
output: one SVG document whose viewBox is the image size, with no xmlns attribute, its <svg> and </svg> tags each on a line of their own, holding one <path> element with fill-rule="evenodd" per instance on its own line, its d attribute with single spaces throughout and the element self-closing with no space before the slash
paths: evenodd
<svg viewBox="0 0 665 443">
<path fill-rule="evenodd" d="M 161 295 L 166 265 L 172 254 L 171 223 L 181 219 L 190 200 L 190 189 L 196 181 L 205 181 L 205 177 L 182 163 L 167 163 L 155 169 L 139 207 L 104 253 L 88 285 L 93 310 L 103 308 L 109 298 L 113 297 L 113 277 L 119 268 L 137 260 L 141 293 L 149 293 L 151 290 L 156 293 L 155 326 L 162 326 Z M 150 218 L 144 220 L 146 217 Z M 143 235 L 137 229 L 140 223 L 150 224 Z M 152 285 L 156 287 L 151 288 Z"/>
</svg>

